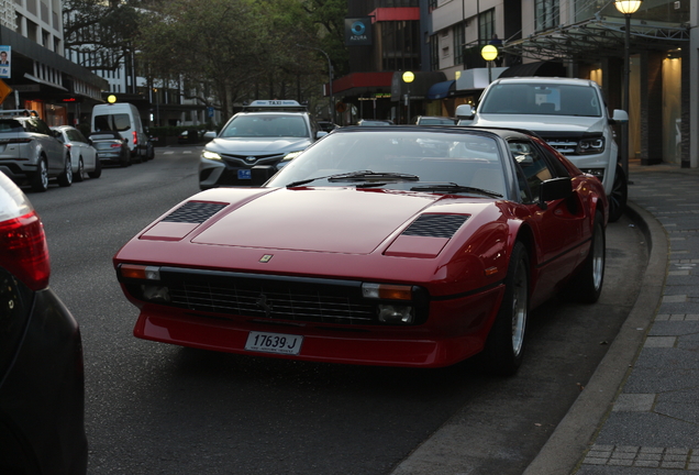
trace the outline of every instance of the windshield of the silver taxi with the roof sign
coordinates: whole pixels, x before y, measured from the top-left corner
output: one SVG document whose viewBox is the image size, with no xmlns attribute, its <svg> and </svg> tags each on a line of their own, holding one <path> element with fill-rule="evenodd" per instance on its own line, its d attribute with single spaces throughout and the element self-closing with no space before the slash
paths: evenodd
<svg viewBox="0 0 699 475">
<path fill-rule="evenodd" d="M 220 137 L 308 137 L 300 115 L 243 114 L 233 118 Z"/>
</svg>

